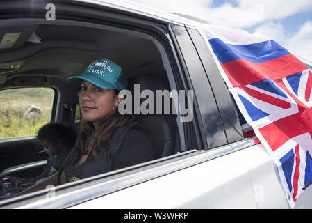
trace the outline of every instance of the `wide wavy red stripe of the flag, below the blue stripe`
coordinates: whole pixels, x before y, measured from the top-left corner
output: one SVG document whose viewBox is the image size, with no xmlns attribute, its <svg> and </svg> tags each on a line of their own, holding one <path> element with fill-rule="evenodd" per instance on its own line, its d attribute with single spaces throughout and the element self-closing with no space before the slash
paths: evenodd
<svg viewBox="0 0 312 223">
<path fill-rule="evenodd" d="M 288 54 L 263 63 L 252 63 L 243 59 L 221 64 L 231 84 L 245 86 L 263 79 L 272 81 L 309 69 L 302 61 Z"/>
</svg>

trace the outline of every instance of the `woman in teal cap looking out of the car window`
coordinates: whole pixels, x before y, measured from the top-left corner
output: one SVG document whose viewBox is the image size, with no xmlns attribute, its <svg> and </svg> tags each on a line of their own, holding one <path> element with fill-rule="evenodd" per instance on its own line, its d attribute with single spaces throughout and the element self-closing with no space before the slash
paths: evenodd
<svg viewBox="0 0 312 223">
<path fill-rule="evenodd" d="M 154 150 L 141 125 L 118 106 L 124 99 L 118 93 L 127 87 L 122 68 L 106 58 L 90 63 L 79 76 L 68 82 L 79 83 L 79 104 L 83 121 L 76 145 L 63 168 L 26 192 L 44 189 L 81 178 L 104 174 L 153 160 Z"/>
</svg>

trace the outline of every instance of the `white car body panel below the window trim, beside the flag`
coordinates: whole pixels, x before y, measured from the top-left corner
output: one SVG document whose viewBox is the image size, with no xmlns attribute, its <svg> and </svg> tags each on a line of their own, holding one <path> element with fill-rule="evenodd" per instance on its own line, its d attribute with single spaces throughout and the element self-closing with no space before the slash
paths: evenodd
<svg viewBox="0 0 312 223">
<path fill-rule="evenodd" d="M 261 144 L 72 208 L 289 208 Z"/>
</svg>

